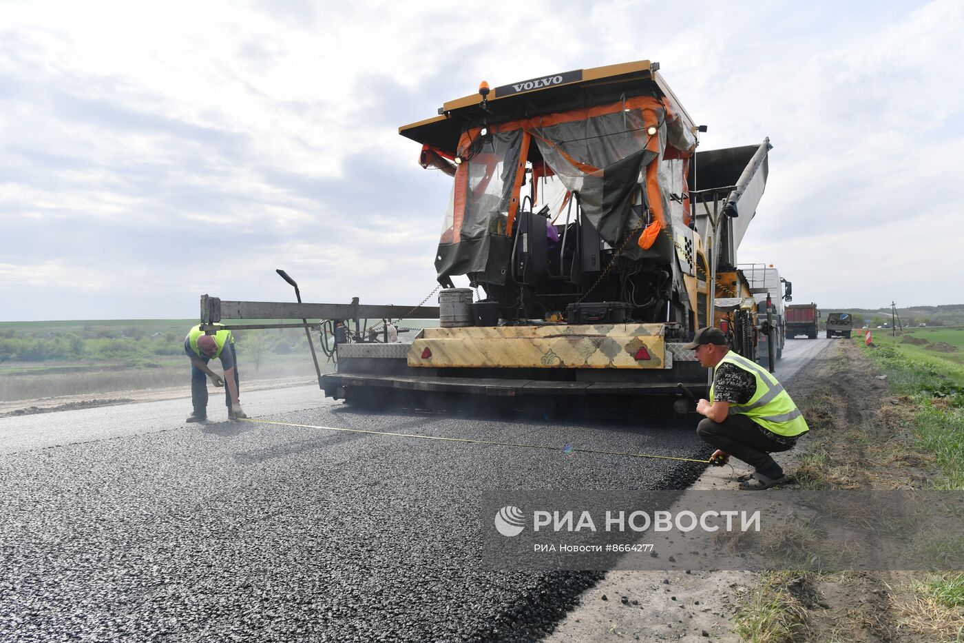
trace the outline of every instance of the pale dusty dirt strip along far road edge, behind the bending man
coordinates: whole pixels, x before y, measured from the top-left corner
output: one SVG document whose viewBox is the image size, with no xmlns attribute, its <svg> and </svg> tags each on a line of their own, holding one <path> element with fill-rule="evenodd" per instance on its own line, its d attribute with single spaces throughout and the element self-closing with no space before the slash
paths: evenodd
<svg viewBox="0 0 964 643">
<path fill-rule="evenodd" d="M 290 388 L 316 383 L 315 377 L 276 377 L 273 379 L 255 379 L 251 382 L 242 381 L 242 399 L 246 391 L 263 391 L 273 388 Z M 208 387 L 208 393 L 215 395 L 213 387 Z M 176 400 L 191 397 L 191 382 L 188 379 L 182 386 L 165 388 L 138 389 L 130 391 L 112 391 L 110 393 L 86 393 L 83 395 L 64 395 L 52 398 L 37 398 L 34 400 L 17 400 L 15 402 L 0 402 L 0 417 L 13 415 L 33 415 L 35 413 L 50 413 L 54 411 L 73 410 L 77 408 L 94 408 L 95 406 L 126 405 L 137 402 L 156 402 L 159 400 Z"/>
</svg>

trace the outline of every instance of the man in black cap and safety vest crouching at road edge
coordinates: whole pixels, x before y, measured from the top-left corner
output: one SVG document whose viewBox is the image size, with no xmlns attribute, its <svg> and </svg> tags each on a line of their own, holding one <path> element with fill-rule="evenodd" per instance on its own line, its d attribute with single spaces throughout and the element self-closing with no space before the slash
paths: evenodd
<svg viewBox="0 0 964 643">
<path fill-rule="evenodd" d="M 716 451 L 711 461 L 730 456 L 755 471 L 740 476 L 740 489 L 769 489 L 790 481 L 771 453 L 788 451 L 810 428 L 776 377 L 756 362 L 730 350 L 719 328 L 702 328 L 687 349 L 696 351 L 700 366 L 713 368 L 710 400 L 700 400 L 696 412 L 706 416 L 696 433 Z"/>
</svg>

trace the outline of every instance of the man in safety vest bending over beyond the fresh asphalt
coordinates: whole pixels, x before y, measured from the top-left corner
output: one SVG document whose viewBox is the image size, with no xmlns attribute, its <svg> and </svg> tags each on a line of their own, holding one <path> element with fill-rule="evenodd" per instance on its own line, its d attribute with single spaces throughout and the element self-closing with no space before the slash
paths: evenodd
<svg viewBox="0 0 964 643">
<path fill-rule="evenodd" d="M 220 324 L 217 324 L 220 325 Z M 207 381 L 210 377 L 215 386 L 225 388 L 225 404 L 228 405 L 228 419 L 245 418 L 241 403 L 238 401 L 238 370 L 237 356 L 234 352 L 234 339 L 227 328 L 219 330 L 214 335 L 205 335 L 201 324 L 195 326 L 184 338 L 184 352 L 191 358 L 191 403 L 194 412 L 188 416 L 188 422 L 203 422 L 207 419 Z M 211 358 L 221 360 L 221 368 L 225 372 L 222 378 L 207 368 Z"/>
</svg>

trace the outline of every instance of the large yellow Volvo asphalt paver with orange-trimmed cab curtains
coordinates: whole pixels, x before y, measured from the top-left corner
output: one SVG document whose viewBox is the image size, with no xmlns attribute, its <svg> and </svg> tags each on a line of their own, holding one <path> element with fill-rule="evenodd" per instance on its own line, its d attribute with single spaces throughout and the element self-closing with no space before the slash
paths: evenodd
<svg viewBox="0 0 964 643">
<path fill-rule="evenodd" d="M 348 402 L 558 395 L 670 399 L 679 411 L 678 384 L 708 390 L 708 370 L 683 348 L 694 333 L 721 325 L 756 359 L 763 325 L 735 266 L 769 139 L 698 152 L 706 129 L 650 61 L 482 82 L 399 127 L 423 168 L 451 178 L 434 261 L 439 307 L 204 295 L 201 323 L 214 332 L 217 322 L 321 320 L 337 366 L 319 385 Z M 363 321 L 399 317 L 439 322 L 387 343 L 382 322 Z M 233 322 L 255 318 L 302 323 Z"/>
</svg>

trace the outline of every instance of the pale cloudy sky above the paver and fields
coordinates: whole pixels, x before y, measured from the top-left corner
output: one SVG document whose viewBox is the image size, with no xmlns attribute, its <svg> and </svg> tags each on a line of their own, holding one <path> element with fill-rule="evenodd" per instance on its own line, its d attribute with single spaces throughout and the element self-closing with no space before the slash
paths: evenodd
<svg viewBox="0 0 964 643">
<path fill-rule="evenodd" d="M 738 258 L 794 302 L 964 302 L 964 3 L 484 7 L 0 0 L 0 321 L 292 300 L 279 267 L 306 301 L 415 305 L 451 180 L 398 126 L 635 60 L 701 150 L 770 138 Z"/>
</svg>

